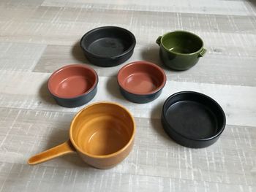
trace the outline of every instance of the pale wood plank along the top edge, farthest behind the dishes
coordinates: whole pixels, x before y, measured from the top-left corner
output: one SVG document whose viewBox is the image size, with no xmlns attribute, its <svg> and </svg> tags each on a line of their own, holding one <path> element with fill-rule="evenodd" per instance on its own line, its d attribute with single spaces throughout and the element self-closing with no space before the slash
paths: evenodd
<svg viewBox="0 0 256 192">
<path fill-rule="evenodd" d="M 111 0 L 106 3 L 104 0 L 100 1 L 83 1 L 83 0 L 45 0 L 43 6 L 50 7 L 94 7 L 94 9 L 121 9 L 121 10 L 149 10 L 152 12 L 189 12 L 189 13 L 210 13 L 219 15 L 249 15 L 250 12 L 244 7 L 243 1 L 214 1 L 206 2 L 202 0 L 195 0 L 191 3 L 189 0 L 176 1 L 163 0 L 145 1 L 116 1 Z"/>
</svg>

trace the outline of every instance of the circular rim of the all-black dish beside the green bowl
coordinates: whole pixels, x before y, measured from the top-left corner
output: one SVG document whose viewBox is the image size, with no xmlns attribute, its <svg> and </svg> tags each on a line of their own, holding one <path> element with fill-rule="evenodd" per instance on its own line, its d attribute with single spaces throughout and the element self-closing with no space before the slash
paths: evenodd
<svg viewBox="0 0 256 192">
<path fill-rule="evenodd" d="M 130 37 L 132 37 L 132 45 L 129 46 L 129 48 L 127 50 L 125 50 L 123 53 L 119 54 L 119 55 L 114 55 L 114 56 L 111 56 L 111 57 L 106 57 L 106 56 L 102 56 L 102 55 L 96 55 L 94 53 L 91 53 L 91 51 L 89 51 L 86 46 L 83 46 L 82 42 L 83 40 L 89 36 L 89 34 L 92 34 L 94 33 L 95 31 L 101 31 L 101 30 L 105 30 L 105 29 L 108 29 L 108 28 L 113 28 L 113 29 L 117 29 L 117 30 L 120 30 L 120 31 L 124 31 L 126 32 L 127 34 L 129 34 Z M 116 59 L 116 58 L 121 58 L 122 56 L 124 55 L 127 55 L 130 51 L 132 51 L 134 48 L 135 48 L 135 45 L 136 45 L 136 38 L 135 38 L 135 35 L 132 34 L 131 31 L 127 30 L 126 28 L 121 28 L 121 27 L 118 27 L 118 26 L 102 26 L 102 27 L 98 27 L 98 28 L 93 28 L 91 29 L 90 31 L 86 32 L 86 34 L 83 35 L 83 37 L 80 39 L 80 47 L 83 49 L 83 51 L 85 51 L 87 54 L 91 55 L 92 57 L 94 58 L 104 58 L 104 59 Z"/>
</svg>

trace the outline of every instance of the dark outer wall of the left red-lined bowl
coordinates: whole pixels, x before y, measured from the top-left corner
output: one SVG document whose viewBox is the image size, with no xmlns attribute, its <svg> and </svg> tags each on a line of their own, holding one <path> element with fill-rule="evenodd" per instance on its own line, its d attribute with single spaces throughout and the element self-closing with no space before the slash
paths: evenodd
<svg viewBox="0 0 256 192">
<path fill-rule="evenodd" d="M 94 89 L 92 89 L 89 93 L 86 93 L 82 96 L 78 96 L 75 98 L 70 98 L 70 99 L 65 99 L 65 98 L 60 98 L 57 96 L 53 96 L 53 99 L 55 99 L 56 103 L 61 105 L 62 107 L 80 107 L 86 103 L 88 103 L 89 101 L 91 101 L 91 99 L 94 98 L 94 96 L 97 93 L 97 85 Z"/>
</svg>

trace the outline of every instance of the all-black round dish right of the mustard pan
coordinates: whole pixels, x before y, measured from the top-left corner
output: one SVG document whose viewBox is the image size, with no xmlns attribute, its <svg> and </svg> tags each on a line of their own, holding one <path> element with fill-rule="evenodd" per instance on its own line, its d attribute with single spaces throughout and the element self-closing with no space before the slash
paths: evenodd
<svg viewBox="0 0 256 192">
<path fill-rule="evenodd" d="M 162 126 L 178 144 L 208 147 L 219 139 L 226 118 L 222 107 L 210 97 L 193 91 L 170 96 L 162 108 Z"/>
</svg>

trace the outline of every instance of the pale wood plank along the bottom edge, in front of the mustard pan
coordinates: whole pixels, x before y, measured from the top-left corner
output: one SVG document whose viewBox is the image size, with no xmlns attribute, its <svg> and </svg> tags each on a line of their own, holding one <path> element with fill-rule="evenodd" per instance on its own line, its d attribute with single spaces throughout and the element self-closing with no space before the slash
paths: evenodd
<svg viewBox="0 0 256 192">
<path fill-rule="evenodd" d="M 59 169 L 22 164 L 1 164 L 7 177 L 2 191 L 179 191 L 179 192 L 253 192 L 255 186 L 101 172 L 96 169 Z M 36 175 L 33 177 L 31 175 Z M 13 185 L 15 183 L 15 185 Z M 67 185 L 67 183 L 69 185 Z"/>
</svg>

